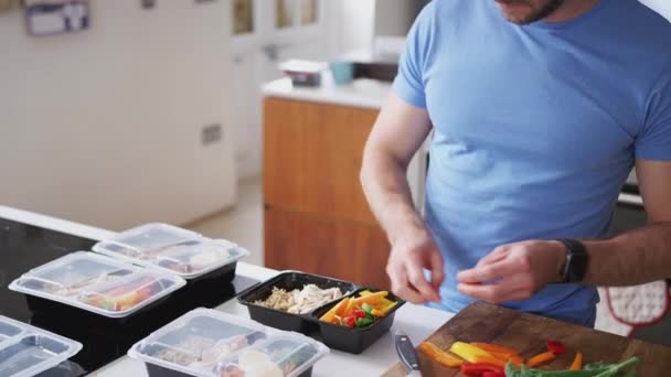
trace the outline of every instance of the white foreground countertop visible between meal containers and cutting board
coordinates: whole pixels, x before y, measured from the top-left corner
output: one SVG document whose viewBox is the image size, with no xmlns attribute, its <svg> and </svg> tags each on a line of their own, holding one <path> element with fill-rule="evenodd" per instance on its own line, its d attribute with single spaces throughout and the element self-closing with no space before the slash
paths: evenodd
<svg viewBox="0 0 671 377">
<path fill-rule="evenodd" d="M 0 206 L 0 217 L 93 239 L 114 236 L 113 231 L 6 206 Z M 258 280 L 267 280 L 277 272 L 247 263 L 238 263 L 237 269 L 238 274 Z M 248 317 L 247 309 L 238 304 L 236 300 L 224 303 L 217 310 Z M 366 352 L 361 355 L 351 355 L 331 351 L 326 358 L 315 366 L 313 376 L 342 376 L 343 374 L 349 376 L 379 376 L 397 360 L 392 338 L 393 332 L 403 328 L 415 343 L 419 343 L 419 341 L 438 330 L 452 315 L 425 306 L 406 304 L 396 312 L 392 331 Z M 92 375 L 97 377 L 143 377 L 147 376 L 147 373 L 141 362 L 125 356 Z"/>
</svg>

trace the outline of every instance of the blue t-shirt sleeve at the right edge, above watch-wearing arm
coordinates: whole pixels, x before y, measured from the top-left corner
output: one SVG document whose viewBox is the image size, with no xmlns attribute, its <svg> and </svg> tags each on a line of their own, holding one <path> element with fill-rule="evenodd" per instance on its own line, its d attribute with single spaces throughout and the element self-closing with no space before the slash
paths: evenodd
<svg viewBox="0 0 671 377">
<path fill-rule="evenodd" d="M 645 115 L 636 139 L 636 158 L 671 161 L 671 65 L 650 93 Z"/>
</svg>

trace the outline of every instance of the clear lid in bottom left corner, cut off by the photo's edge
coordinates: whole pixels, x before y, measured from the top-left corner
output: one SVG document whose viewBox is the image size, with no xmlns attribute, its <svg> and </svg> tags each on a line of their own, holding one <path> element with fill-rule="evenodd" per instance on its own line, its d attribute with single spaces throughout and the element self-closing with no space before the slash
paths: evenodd
<svg viewBox="0 0 671 377">
<path fill-rule="evenodd" d="M 0 376 L 34 376 L 81 349 L 75 341 L 0 315 Z"/>
</svg>

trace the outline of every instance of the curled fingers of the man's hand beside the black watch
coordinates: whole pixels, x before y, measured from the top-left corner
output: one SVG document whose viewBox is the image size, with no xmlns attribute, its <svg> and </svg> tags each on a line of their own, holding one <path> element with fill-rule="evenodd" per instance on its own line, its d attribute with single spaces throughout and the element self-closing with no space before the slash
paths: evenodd
<svg viewBox="0 0 671 377">
<path fill-rule="evenodd" d="M 491 303 L 501 303 L 512 300 L 525 300 L 533 294 L 533 282 L 525 274 L 503 279 L 492 284 L 459 283 L 457 287 L 461 294 Z"/>
</svg>

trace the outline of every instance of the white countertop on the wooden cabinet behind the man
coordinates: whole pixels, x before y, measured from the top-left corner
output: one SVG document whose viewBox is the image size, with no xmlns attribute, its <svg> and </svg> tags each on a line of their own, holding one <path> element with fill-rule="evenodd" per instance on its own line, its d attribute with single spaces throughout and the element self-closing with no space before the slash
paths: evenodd
<svg viewBox="0 0 671 377">
<path fill-rule="evenodd" d="M 368 78 L 359 78 L 348 85 L 338 86 L 332 83 L 328 74 L 324 75 L 322 86 L 316 88 L 294 86 L 290 78 L 270 82 L 262 88 L 264 97 L 371 109 L 382 108 L 391 91 L 390 83 Z"/>
</svg>

